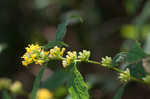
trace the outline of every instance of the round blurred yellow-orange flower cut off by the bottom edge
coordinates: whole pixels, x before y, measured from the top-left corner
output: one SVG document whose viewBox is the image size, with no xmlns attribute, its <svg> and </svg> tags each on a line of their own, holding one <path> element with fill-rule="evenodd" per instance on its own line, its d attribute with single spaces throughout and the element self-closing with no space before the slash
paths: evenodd
<svg viewBox="0 0 150 99">
<path fill-rule="evenodd" d="M 52 99 L 53 94 L 46 88 L 39 89 L 37 92 L 37 99 Z"/>
</svg>

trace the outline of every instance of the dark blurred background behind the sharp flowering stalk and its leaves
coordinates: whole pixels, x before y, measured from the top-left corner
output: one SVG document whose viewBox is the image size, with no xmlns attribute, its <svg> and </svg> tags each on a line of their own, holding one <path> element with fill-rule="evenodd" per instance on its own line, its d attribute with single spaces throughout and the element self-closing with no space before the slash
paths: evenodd
<svg viewBox="0 0 150 99">
<path fill-rule="evenodd" d="M 22 66 L 20 57 L 24 48 L 30 43 L 44 45 L 54 40 L 58 24 L 72 14 L 81 16 L 84 22 L 72 20 L 68 26 L 64 42 L 71 50 L 88 49 L 91 59 L 100 61 L 101 57 L 129 49 L 133 40 L 138 40 L 150 53 L 149 0 L 1 0 L 0 77 L 20 80 L 24 89 L 31 91 L 40 66 Z M 43 81 L 56 68 L 50 66 Z M 91 84 L 91 99 L 112 99 L 120 86 L 117 74 L 112 71 L 84 63 L 79 70 Z M 123 99 L 149 99 L 149 91 L 133 82 L 126 88 Z M 64 93 L 63 97 L 66 96 Z"/>
</svg>

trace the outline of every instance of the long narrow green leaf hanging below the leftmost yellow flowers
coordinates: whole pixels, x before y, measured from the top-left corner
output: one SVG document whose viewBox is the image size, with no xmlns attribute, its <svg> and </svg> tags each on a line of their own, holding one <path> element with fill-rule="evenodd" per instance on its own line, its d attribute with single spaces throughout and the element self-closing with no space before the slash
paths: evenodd
<svg viewBox="0 0 150 99">
<path fill-rule="evenodd" d="M 45 70 L 45 66 L 41 67 L 40 72 L 38 73 L 38 75 L 34 81 L 33 89 L 32 89 L 32 99 L 36 99 L 36 93 L 40 86 L 40 81 L 43 76 L 44 70 Z"/>
</svg>

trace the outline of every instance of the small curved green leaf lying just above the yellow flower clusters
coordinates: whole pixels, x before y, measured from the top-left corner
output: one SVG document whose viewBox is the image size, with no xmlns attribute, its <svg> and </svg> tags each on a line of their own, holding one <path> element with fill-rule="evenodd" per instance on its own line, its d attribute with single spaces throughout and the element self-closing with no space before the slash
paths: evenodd
<svg viewBox="0 0 150 99">
<path fill-rule="evenodd" d="M 50 41 L 47 45 L 44 46 L 45 49 L 50 49 L 54 46 L 58 46 L 58 47 L 62 47 L 62 46 L 65 46 L 65 47 L 68 47 L 68 45 L 64 42 L 61 42 L 61 41 Z"/>
</svg>

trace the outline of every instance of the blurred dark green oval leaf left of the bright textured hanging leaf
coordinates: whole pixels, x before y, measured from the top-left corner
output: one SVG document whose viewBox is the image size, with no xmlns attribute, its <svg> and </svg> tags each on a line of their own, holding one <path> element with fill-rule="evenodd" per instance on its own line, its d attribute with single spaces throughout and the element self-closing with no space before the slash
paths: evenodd
<svg viewBox="0 0 150 99">
<path fill-rule="evenodd" d="M 68 79 L 68 75 L 64 71 L 54 72 L 45 82 L 43 82 L 42 87 L 49 90 L 55 90 Z"/>
</svg>

